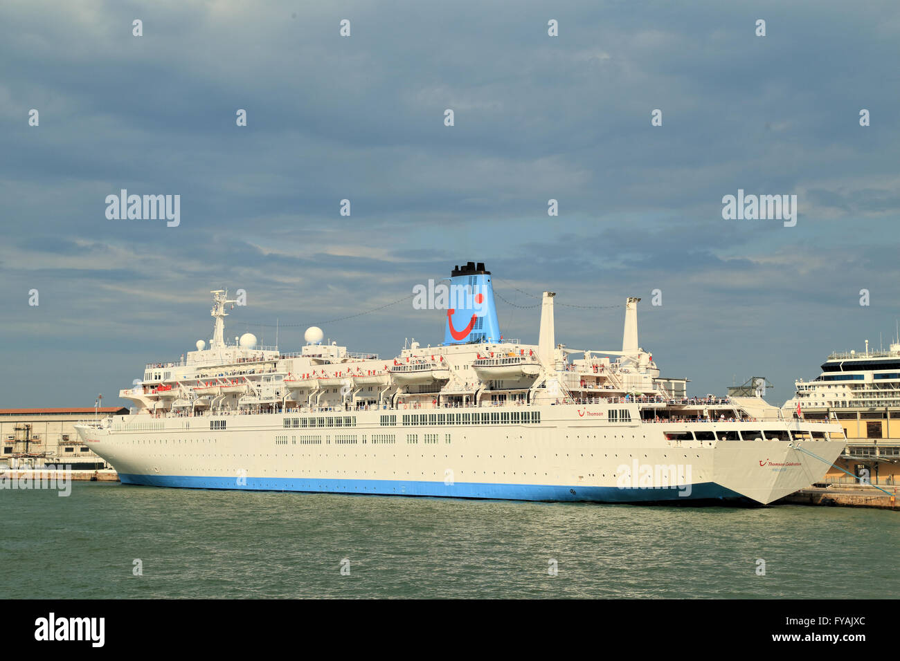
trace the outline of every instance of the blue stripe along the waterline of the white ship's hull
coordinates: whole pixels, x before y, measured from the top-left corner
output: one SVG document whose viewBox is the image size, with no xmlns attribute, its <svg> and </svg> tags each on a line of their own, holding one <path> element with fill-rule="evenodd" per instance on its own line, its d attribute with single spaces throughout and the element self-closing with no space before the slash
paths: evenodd
<svg viewBox="0 0 900 661">
<path fill-rule="evenodd" d="M 196 489 L 239 489 L 253 491 L 303 491 L 331 494 L 374 494 L 379 496 L 439 496 L 449 498 L 496 498 L 500 500 L 590 501 L 597 503 L 687 502 L 695 500 L 746 500 L 737 492 L 715 482 L 683 488 L 617 488 L 582 485 L 520 485 L 481 482 L 416 482 L 380 479 L 307 478 L 213 478 L 185 475 L 135 475 L 120 473 L 122 484 L 148 487 Z M 244 481 L 244 480 L 242 480 Z"/>
</svg>

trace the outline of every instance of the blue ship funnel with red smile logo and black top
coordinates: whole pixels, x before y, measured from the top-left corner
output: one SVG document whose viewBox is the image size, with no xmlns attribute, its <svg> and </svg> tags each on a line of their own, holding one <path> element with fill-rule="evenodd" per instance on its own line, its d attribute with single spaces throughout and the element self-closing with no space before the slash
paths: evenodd
<svg viewBox="0 0 900 661">
<path fill-rule="evenodd" d="M 456 266 L 449 293 L 444 344 L 500 342 L 491 272 L 482 262 Z"/>
</svg>

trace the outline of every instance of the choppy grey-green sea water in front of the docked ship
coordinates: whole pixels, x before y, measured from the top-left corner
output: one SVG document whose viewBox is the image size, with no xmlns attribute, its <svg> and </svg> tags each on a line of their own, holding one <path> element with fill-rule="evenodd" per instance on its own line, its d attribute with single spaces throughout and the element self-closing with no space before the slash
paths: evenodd
<svg viewBox="0 0 900 661">
<path fill-rule="evenodd" d="M 900 517 L 880 510 L 76 482 L 0 492 L 0 522 L 4 598 L 900 595 Z"/>
</svg>

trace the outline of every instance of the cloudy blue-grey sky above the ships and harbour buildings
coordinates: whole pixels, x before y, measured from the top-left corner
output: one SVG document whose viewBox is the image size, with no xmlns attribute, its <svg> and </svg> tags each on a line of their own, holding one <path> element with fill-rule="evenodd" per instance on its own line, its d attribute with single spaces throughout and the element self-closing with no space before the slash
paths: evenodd
<svg viewBox="0 0 900 661">
<path fill-rule="evenodd" d="M 4 0 L 0 407 L 126 405 L 224 287 L 227 337 L 439 344 L 387 304 L 468 261 L 507 338 L 553 290 L 557 342 L 617 350 L 638 296 L 663 376 L 783 403 L 895 334 L 898 56 L 896 2 Z M 179 224 L 107 218 L 121 189 Z M 725 219 L 739 189 L 796 226 Z"/>
</svg>

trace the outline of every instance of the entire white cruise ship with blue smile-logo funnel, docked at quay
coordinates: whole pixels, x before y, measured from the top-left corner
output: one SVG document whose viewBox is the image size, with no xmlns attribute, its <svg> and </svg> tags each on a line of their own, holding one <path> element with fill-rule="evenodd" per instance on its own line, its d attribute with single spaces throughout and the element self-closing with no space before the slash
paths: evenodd
<svg viewBox="0 0 900 661">
<path fill-rule="evenodd" d="M 149 363 L 121 390 L 130 415 L 78 433 L 123 484 L 602 503 L 765 505 L 844 447 L 828 420 L 688 397 L 639 345 L 638 298 L 621 350 L 573 349 L 556 343 L 554 292 L 523 344 L 501 335 L 484 264 L 448 281 L 443 343 L 389 358 L 315 326 L 295 353 L 250 333 L 231 344 L 236 301 L 212 291 L 209 343 Z"/>
</svg>

